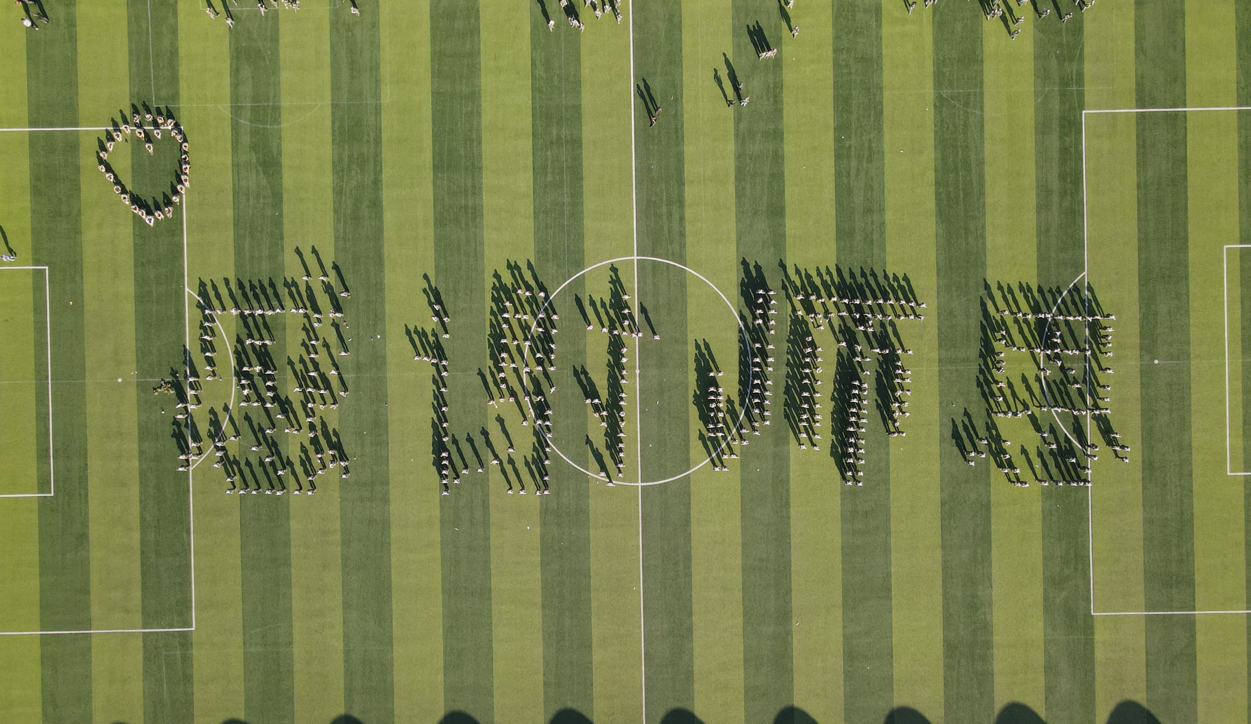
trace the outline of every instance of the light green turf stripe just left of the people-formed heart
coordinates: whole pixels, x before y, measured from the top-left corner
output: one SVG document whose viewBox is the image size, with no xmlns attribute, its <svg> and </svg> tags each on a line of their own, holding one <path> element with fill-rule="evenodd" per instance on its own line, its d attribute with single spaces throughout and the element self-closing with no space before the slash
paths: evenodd
<svg viewBox="0 0 1251 724">
<path fill-rule="evenodd" d="M 84 5 L 79 21 L 90 33 L 79 40 L 80 118 L 105 125 L 129 95 L 125 3 Z M 120 99 L 120 100 L 119 100 Z M 111 109 L 111 111 L 110 111 Z M 119 119 L 120 120 L 120 119 Z M 94 146 L 100 134 L 84 133 Z M 128 154 L 110 155 L 130 183 Z M 91 529 L 91 621 L 94 628 L 141 628 L 139 575 L 138 404 L 135 385 L 134 251 L 130 215 L 101 178 L 90 153 L 81 154 L 83 304 L 88 373 L 88 495 Z M 123 380 L 123 381 L 118 381 Z M 93 636 L 93 716 L 100 721 L 143 721 L 143 640 L 135 635 Z"/>
</svg>

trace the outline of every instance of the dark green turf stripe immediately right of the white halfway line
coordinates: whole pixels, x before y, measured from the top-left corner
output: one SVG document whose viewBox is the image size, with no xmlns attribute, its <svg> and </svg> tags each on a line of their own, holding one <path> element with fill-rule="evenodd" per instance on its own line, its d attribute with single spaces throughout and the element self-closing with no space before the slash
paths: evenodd
<svg viewBox="0 0 1251 724">
<path fill-rule="evenodd" d="M 661 106 L 656 126 L 638 94 L 634 173 L 638 253 L 686 261 L 686 175 L 682 153 L 682 8 L 678 3 L 631 5 L 634 83 Z M 646 85 L 644 85 L 646 83 Z M 623 276 L 628 270 L 623 270 Z M 687 469 L 687 274 L 654 261 L 638 266 L 638 299 L 661 334 L 639 339 L 638 386 L 627 415 L 641 413 L 642 460 L 627 439 L 626 479 L 658 480 Z M 634 404 L 642 405 L 636 409 Z M 641 465 L 641 469 L 639 469 Z M 691 601 L 691 479 L 642 490 L 644 708 L 651 721 L 672 709 L 694 708 L 694 634 Z"/>
</svg>

